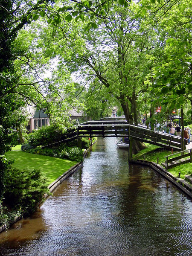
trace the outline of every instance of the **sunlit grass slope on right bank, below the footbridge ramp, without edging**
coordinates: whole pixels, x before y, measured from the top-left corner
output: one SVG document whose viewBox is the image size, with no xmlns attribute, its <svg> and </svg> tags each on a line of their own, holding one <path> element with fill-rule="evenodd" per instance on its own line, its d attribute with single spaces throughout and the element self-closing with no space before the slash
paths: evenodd
<svg viewBox="0 0 192 256">
<path fill-rule="evenodd" d="M 134 160 L 141 159 L 141 160 L 147 160 L 147 161 L 157 163 L 157 157 L 158 157 L 159 164 L 160 164 L 160 163 L 165 163 L 166 156 L 172 154 L 171 151 L 167 151 L 167 150 L 155 151 L 156 148 L 160 148 L 158 146 L 147 144 L 147 143 L 145 143 L 145 145 L 147 146 L 147 148 L 140 151 L 138 154 L 133 155 Z M 176 166 L 174 168 L 169 169 L 169 172 L 175 177 L 178 177 L 180 172 L 180 178 L 184 179 L 185 175 L 192 175 L 192 163 L 186 163 L 180 166 Z"/>
</svg>

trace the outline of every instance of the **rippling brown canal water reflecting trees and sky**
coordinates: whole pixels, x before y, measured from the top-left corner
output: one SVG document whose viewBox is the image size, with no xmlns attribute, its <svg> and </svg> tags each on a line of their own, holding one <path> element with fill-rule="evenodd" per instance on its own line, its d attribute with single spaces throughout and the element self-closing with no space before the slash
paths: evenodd
<svg viewBox="0 0 192 256">
<path fill-rule="evenodd" d="M 0 256 L 190 256 L 192 202 L 100 138 L 31 218 L 0 233 Z"/>
</svg>

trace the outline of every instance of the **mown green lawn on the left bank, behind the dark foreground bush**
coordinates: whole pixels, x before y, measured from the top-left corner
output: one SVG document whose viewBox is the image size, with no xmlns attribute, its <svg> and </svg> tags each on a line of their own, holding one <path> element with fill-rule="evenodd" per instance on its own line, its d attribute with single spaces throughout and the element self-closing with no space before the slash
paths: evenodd
<svg viewBox="0 0 192 256">
<path fill-rule="evenodd" d="M 41 168 L 44 175 L 52 183 L 64 172 L 67 172 L 70 167 L 74 166 L 77 162 L 65 160 L 56 157 L 48 157 L 39 154 L 30 154 L 23 151 L 10 151 L 6 153 L 7 159 L 15 159 L 12 166 L 24 168 Z"/>
</svg>

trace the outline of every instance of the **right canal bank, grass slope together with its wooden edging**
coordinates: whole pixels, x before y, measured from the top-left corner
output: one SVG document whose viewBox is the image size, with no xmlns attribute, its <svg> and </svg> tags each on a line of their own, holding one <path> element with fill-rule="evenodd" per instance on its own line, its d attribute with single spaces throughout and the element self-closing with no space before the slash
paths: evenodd
<svg viewBox="0 0 192 256">
<path fill-rule="evenodd" d="M 150 144 L 146 146 L 147 148 L 133 156 L 131 162 L 150 166 L 192 198 L 192 163 L 173 167 L 168 172 L 163 167 L 163 163 L 166 156 L 172 154 L 172 151 L 162 150 L 162 148 Z M 189 146 L 188 149 L 190 149 Z"/>
</svg>

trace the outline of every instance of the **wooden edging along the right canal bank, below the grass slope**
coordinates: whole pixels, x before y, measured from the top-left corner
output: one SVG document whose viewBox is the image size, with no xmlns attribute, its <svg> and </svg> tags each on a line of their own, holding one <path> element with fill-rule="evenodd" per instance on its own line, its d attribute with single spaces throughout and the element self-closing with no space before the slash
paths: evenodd
<svg viewBox="0 0 192 256">
<path fill-rule="evenodd" d="M 157 163 L 149 162 L 146 160 L 131 160 L 130 163 L 142 164 L 145 166 L 150 166 L 152 169 L 157 171 L 160 175 L 165 177 L 171 183 L 173 183 L 178 189 L 184 192 L 189 198 L 192 198 L 192 186 L 185 182 L 185 180 L 174 177 L 170 172 L 167 172 L 162 166 Z"/>
</svg>

